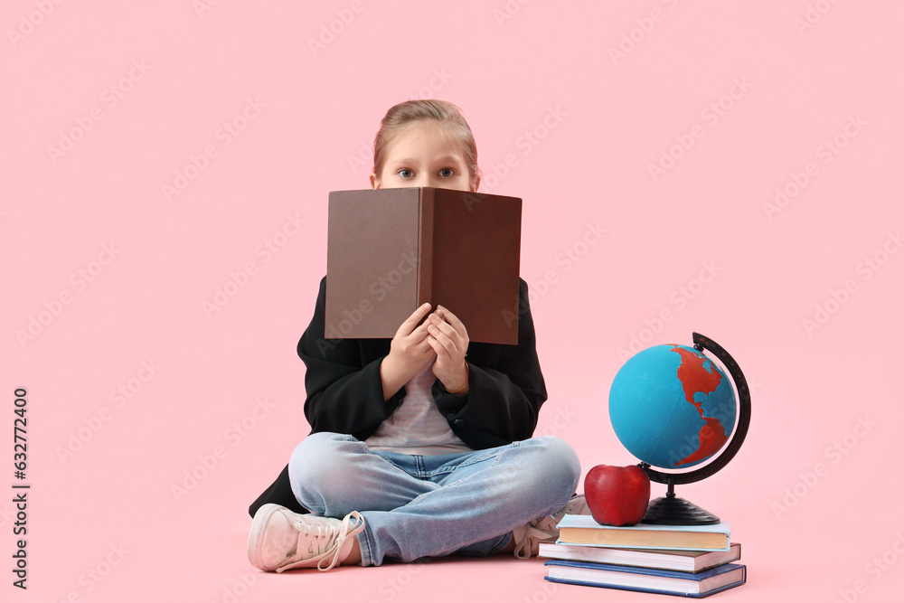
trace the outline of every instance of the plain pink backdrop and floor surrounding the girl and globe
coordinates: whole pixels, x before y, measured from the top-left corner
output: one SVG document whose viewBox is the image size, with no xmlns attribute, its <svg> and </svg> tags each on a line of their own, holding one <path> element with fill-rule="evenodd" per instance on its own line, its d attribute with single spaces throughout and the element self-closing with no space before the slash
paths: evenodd
<svg viewBox="0 0 904 603">
<path fill-rule="evenodd" d="M 308 430 L 327 192 L 367 186 L 358 154 L 412 97 L 462 108 L 482 190 L 524 199 L 538 433 L 585 473 L 635 463 L 607 418 L 619 348 L 706 334 L 753 391 L 738 457 L 678 490 L 743 545 L 749 583 L 720 600 L 899 596 L 900 3 L 202 2 L 4 3 L 4 600 L 654 598 L 555 587 L 538 560 L 245 559 L 248 504 Z"/>
</svg>

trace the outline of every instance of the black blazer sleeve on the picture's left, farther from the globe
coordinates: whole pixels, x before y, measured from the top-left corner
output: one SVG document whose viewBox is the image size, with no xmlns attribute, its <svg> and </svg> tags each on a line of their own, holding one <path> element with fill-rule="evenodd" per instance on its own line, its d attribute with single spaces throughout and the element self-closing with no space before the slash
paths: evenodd
<svg viewBox="0 0 904 603">
<path fill-rule="evenodd" d="M 359 340 L 325 338 L 325 299 L 323 278 L 314 317 L 298 342 L 298 355 L 307 367 L 305 416 L 311 433 L 332 431 L 365 439 L 398 408 L 405 390 L 383 400 L 384 356 L 364 358 Z"/>
</svg>

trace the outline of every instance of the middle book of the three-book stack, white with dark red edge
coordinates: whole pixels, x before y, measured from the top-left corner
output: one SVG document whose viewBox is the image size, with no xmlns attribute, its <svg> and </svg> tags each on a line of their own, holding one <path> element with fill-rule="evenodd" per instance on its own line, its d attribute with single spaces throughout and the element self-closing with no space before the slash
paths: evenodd
<svg viewBox="0 0 904 603">
<path fill-rule="evenodd" d="M 739 561 L 739 542 L 731 542 L 728 551 L 667 551 L 649 549 L 608 549 L 581 544 L 540 543 L 540 556 L 563 561 L 586 561 L 609 565 L 628 565 L 651 570 L 697 573 L 725 563 Z"/>
</svg>

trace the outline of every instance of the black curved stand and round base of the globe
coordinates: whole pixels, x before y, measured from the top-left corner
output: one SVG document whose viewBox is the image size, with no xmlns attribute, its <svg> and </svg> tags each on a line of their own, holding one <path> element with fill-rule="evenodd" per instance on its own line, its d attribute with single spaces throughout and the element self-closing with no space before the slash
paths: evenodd
<svg viewBox="0 0 904 603">
<path fill-rule="evenodd" d="M 700 352 L 704 349 L 708 350 L 728 370 L 735 389 L 738 391 L 738 427 L 720 456 L 700 469 L 694 469 L 685 473 L 664 473 L 657 471 L 647 463 L 640 463 L 640 468 L 645 471 L 647 476 L 650 476 L 652 481 L 668 485 L 668 491 L 665 496 L 656 498 L 647 507 L 643 519 L 644 523 L 661 525 L 712 525 L 719 523 L 720 520 L 717 516 L 695 504 L 689 503 L 683 498 L 676 497 L 674 486 L 675 484 L 699 482 L 728 465 L 729 461 L 738 453 L 741 444 L 744 443 L 744 438 L 747 437 L 747 431 L 750 427 L 750 389 L 738 363 L 735 362 L 730 353 L 725 351 L 725 348 L 702 334 L 693 334 L 693 347 Z"/>
</svg>

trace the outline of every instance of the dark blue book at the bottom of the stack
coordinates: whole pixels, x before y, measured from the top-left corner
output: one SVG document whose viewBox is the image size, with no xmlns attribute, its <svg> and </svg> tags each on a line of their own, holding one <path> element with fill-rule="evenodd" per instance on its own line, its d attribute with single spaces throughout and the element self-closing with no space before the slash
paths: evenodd
<svg viewBox="0 0 904 603">
<path fill-rule="evenodd" d="M 583 561 L 551 560 L 545 565 L 546 579 L 551 582 L 693 598 L 709 597 L 747 581 L 747 566 L 739 563 L 726 563 L 695 574 Z"/>
</svg>

